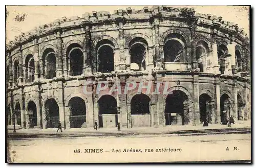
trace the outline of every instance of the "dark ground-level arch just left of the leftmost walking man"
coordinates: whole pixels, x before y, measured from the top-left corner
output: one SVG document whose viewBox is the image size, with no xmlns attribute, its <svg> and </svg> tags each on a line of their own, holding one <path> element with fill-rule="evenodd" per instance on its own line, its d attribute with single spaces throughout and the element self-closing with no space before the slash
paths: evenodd
<svg viewBox="0 0 256 168">
<path fill-rule="evenodd" d="M 59 106 L 54 99 L 48 99 L 45 103 L 46 128 L 58 128 Z"/>
</svg>

